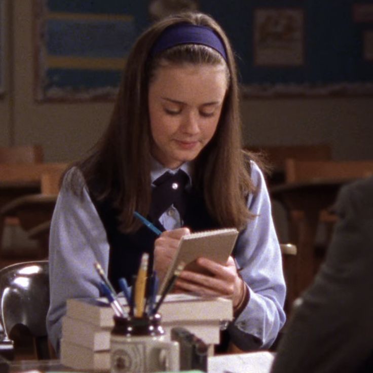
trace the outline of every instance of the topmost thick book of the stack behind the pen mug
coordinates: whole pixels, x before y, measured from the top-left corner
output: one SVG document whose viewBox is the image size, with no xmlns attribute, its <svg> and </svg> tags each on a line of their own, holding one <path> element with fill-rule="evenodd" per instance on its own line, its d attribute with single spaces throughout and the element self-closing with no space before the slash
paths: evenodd
<svg viewBox="0 0 373 373">
<path fill-rule="evenodd" d="M 124 297 L 119 301 L 127 308 Z M 177 322 L 207 322 L 233 319 L 232 300 L 220 296 L 199 296 L 194 294 L 168 294 L 159 313 L 162 324 Z M 114 311 L 104 298 L 68 299 L 66 316 L 100 327 L 113 327 Z"/>
</svg>

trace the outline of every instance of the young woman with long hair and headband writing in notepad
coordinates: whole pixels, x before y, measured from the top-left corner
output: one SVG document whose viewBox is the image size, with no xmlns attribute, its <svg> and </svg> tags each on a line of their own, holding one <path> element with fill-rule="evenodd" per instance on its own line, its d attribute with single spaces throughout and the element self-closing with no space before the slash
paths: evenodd
<svg viewBox="0 0 373 373">
<path fill-rule="evenodd" d="M 199 258 L 211 275 L 183 271 L 176 288 L 231 296 L 228 332 L 241 349 L 273 343 L 285 321 L 281 253 L 263 174 L 241 150 L 238 105 L 232 48 L 209 16 L 172 16 L 139 37 L 109 126 L 66 173 L 53 215 L 47 326 L 57 351 L 66 299 L 99 296 L 96 261 L 117 286 L 148 252 L 162 278 L 182 235 L 219 227 L 240 230 L 233 257 Z"/>
</svg>

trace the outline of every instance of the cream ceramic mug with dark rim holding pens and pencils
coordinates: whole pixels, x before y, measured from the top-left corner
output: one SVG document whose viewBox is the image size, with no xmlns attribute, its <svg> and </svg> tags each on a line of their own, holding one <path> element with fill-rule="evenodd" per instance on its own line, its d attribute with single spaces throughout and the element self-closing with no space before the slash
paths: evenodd
<svg viewBox="0 0 373 373">
<path fill-rule="evenodd" d="M 179 345 L 166 340 L 160 319 L 160 315 L 114 317 L 110 335 L 111 373 L 179 370 Z"/>
</svg>

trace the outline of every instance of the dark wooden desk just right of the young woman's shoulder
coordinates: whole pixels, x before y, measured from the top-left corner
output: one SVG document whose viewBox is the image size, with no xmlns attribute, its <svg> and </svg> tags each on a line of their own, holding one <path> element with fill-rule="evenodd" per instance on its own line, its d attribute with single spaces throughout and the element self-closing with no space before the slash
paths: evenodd
<svg viewBox="0 0 373 373">
<path fill-rule="evenodd" d="M 318 179 L 311 182 L 294 182 L 270 188 L 270 195 L 286 209 L 290 229 L 290 242 L 297 247 L 295 273 L 288 289 L 290 303 L 300 296 L 314 278 L 316 271 L 314 243 L 319 214 L 331 206 L 343 183 L 352 180 Z M 295 219 L 294 211 L 302 211 L 303 218 Z"/>
</svg>

